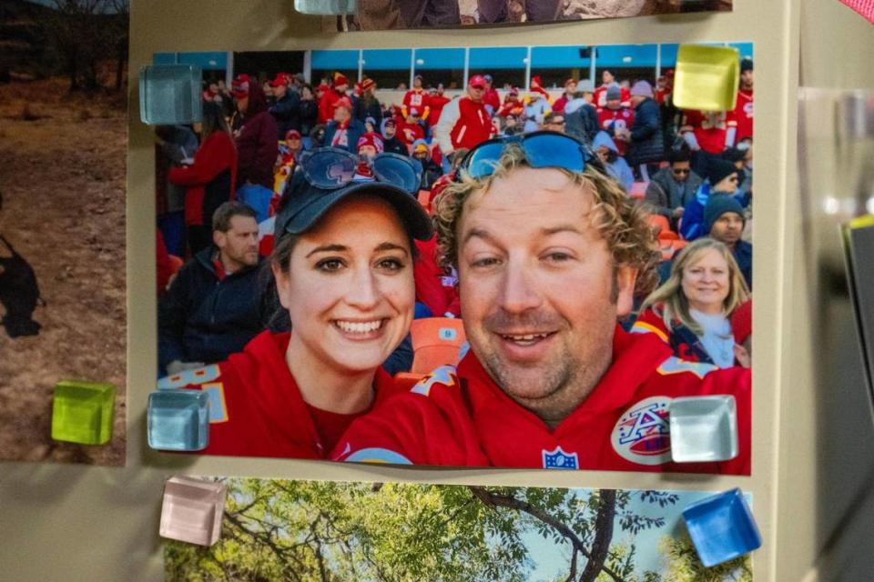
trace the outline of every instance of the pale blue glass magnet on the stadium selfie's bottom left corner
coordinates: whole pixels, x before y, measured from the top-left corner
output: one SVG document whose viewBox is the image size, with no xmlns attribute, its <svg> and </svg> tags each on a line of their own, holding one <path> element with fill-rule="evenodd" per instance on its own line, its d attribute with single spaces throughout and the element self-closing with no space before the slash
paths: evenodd
<svg viewBox="0 0 874 582">
<path fill-rule="evenodd" d="M 209 444 L 209 396 L 201 390 L 158 390 L 148 395 L 148 446 L 199 451 Z"/>
</svg>

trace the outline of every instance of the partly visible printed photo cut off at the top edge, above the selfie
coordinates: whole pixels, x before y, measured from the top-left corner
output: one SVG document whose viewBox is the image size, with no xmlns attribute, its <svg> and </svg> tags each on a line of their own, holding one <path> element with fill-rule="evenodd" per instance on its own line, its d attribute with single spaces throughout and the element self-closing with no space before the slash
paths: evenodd
<svg viewBox="0 0 874 582">
<path fill-rule="evenodd" d="M 397 30 L 550 23 L 728 11 L 733 0 L 358 0 L 358 14 L 327 19 L 333 30 Z"/>
</svg>

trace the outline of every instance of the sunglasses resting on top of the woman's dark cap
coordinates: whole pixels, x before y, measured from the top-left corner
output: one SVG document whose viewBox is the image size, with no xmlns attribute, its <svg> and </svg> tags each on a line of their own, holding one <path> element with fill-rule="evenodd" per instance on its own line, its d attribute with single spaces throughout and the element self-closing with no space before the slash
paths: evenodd
<svg viewBox="0 0 874 582">
<path fill-rule="evenodd" d="M 373 180 L 415 194 L 422 183 L 422 164 L 408 156 L 382 153 L 357 156 L 339 147 L 320 147 L 300 156 L 300 171 L 312 186 L 336 190 L 355 180 L 361 163 L 370 166 Z"/>
</svg>

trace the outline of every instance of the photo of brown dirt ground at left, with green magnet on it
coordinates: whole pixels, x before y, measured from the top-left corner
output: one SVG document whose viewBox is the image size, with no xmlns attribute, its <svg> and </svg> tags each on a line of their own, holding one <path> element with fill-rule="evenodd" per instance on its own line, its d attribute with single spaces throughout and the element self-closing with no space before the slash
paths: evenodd
<svg viewBox="0 0 874 582">
<path fill-rule="evenodd" d="M 125 464 L 128 26 L 110 4 L 0 8 L 0 460 Z"/>
</svg>

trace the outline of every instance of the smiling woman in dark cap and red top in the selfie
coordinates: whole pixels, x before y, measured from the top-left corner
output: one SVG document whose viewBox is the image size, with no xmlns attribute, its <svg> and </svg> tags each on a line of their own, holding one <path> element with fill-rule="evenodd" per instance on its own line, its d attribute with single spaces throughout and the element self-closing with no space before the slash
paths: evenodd
<svg viewBox="0 0 874 582">
<path fill-rule="evenodd" d="M 352 180 L 355 165 L 331 174 L 347 159 L 332 151 L 301 161 L 276 216 L 270 267 L 291 331 L 162 380 L 210 394 L 207 454 L 323 458 L 394 390 L 381 365 L 409 333 L 412 240 L 430 238 L 431 224 L 400 186 Z"/>
</svg>

